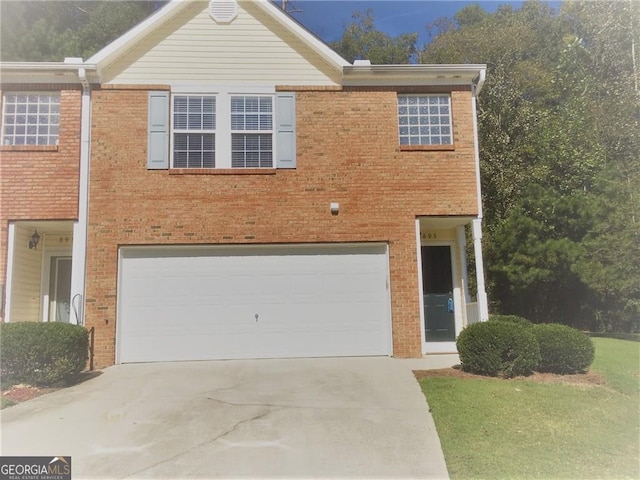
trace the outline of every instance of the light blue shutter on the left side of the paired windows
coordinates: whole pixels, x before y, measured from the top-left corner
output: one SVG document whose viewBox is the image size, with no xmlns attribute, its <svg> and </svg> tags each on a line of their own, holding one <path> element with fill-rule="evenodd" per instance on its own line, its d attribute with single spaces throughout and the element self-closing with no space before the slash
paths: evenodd
<svg viewBox="0 0 640 480">
<path fill-rule="evenodd" d="M 149 92 L 147 168 L 169 168 L 169 92 Z"/>
</svg>

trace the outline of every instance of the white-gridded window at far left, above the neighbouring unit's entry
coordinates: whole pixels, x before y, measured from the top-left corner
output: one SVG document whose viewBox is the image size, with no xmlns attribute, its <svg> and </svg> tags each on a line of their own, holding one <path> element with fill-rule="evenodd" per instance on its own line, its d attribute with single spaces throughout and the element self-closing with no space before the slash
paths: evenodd
<svg viewBox="0 0 640 480">
<path fill-rule="evenodd" d="M 57 145 L 60 94 L 9 92 L 2 102 L 3 145 Z"/>
</svg>

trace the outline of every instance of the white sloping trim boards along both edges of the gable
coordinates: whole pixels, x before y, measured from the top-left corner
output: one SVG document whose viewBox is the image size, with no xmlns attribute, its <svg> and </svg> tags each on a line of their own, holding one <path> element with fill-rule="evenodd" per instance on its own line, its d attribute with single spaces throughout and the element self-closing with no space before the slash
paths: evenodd
<svg viewBox="0 0 640 480">
<path fill-rule="evenodd" d="M 98 71 L 103 70 L 129 50 L 133 44 L 141 42 L 152 31 L 175 18 L 194 2 L 202 3 L 201 0 L 171 0 L 167 5 L 149 16 L 146 20 L 142 21 L 127 33 L 95 53 L 87 59 L 86 63 L 96 65 Z M 299 38 L 326 63 L 335 68 L 336 72 L 341 73 L 343 67 L 351 65 L 332 50 L 326 43 L 292 19 L 287 13 L 282 11 L 270 0 L 238 0 L 238 3 L 251 3 L 252 5 L 259 7 L 263 13 Z"/>
</svg>

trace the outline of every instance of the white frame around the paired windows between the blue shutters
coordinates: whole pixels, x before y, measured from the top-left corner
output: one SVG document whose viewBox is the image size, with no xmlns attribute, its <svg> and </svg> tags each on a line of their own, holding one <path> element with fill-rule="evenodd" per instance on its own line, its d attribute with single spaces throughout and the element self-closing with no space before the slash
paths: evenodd
<svg viewBox="0 0 640 480">
<path fill-rule="evenodd" d="M 231 97 L 271 97 L 272 99 L 272 129 L 261 130 L 255 133 L 270 133 L 271 145 L 272 145 L 272 166 L 261 167 L 261 169 L 269 170 L 276 169 L 277 156 L 276 156 L 276 93 L 273 88 L 251 88 L 248 90 L 238 90 L 237 86 L 222 86 L 215 90 L 202 91 L 201 87 L 182 85 L 176 87 L 171 92 L 170 105 L 170 168 L 181 168 L 174 166 L 174 97 L 176 96 L 215 96 L 216 97 L 216 129 L 215 129 L 215 169 L 232 169 L 231 157 L 232 157 L 232 142 L 231 135 L 233 133 L 231 129 Z M 247 131 L 251 133 L 253 131 Z M 240 132 L 236 132 L 240 133 Z M 244 131 L 242 133 L 245 133 Z M 234 170 L 242 170 L 244 167 L 235 167 Z M 249 167 L 253 168 L 253 167 Z M 198 168 L 190 168 L 189 170 L 198 170 Z"/>
</svg>

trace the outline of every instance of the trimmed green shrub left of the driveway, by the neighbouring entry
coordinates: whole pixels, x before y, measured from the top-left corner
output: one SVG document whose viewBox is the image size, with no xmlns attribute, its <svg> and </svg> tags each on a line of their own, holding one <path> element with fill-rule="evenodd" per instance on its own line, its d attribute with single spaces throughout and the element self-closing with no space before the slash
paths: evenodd
<svg viewBox="0 0 640 480">
<path fill-rule="evenodd" d="M 88 332 L 68 323 L 0 324 L 0 379 L 3 386 L 72 382 L 88 358 Z"/>
</svg>

